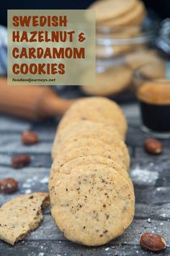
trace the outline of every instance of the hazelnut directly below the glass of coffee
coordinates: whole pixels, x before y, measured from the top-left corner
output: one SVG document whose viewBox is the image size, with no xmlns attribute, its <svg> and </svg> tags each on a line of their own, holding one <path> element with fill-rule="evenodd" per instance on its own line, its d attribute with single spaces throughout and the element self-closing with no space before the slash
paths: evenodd
<svg viewBox="0 0 170 256">
<path fill-rule="evenodd" d="M 159 154 L 162 152 L 161 142 L 156 139 L 153 139 L 153 138 L 146 139 L 144 145 L 148 153 Z"/>
</svg>

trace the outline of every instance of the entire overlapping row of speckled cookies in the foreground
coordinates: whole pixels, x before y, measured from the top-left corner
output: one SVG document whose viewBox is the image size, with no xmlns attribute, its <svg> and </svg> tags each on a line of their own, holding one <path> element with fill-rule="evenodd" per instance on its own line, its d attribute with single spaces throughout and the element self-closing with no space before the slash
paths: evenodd
<svg viewBox="0 0 170 256">
<path fill-rule="evenodd" d="M 53 144 L 51 212 L 63 234 L 88 246 L 120 236 L 133 221 L 125 116 L 107 98 L 84 98 L 61 120 Z"/>
</svg>

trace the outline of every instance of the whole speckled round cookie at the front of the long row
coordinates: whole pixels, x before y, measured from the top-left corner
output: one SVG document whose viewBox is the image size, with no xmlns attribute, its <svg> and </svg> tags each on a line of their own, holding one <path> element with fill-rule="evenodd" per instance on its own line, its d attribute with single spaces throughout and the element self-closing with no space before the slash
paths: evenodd
<svg viewBox="0 0 170 256">
<path fill-rule="evenodd" d="M 126 174 L 126 173 L 125 173 Z M 52 216 L 64 236 L 96 246 L 120 236 L 133 221 L 133 184 L 113 168 L 86 165 L 55 184 Z"/>
</svg>

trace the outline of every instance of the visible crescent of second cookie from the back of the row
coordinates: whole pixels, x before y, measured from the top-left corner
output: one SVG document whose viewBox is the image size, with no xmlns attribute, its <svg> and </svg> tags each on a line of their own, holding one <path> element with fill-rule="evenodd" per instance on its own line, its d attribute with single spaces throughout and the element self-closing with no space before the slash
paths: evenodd
<svg viewBox="0 0 170 256">
<path fill-rule="evenodd" d="M 105 123 L 95 123 L 92 121 L 76 121 L 73 125 L 69 125 L 68 128 L 63 129 L 63 132 L 58 132 L 55 137 L 55 142 L 53 145 L 53 158 L 58 154 L 58 152 L 64 152 L 66 145 L 74 142 L 75 140 L 80 140 L 81 138 L 96 138 L 101 140 L 108 145 L 112 145 L 112 148 L 120 151 L 120 157 L 125 158 L 125 163 L 129 165 L 128 152 L 125 143 L 121 140 L 119 133 L 112 129 Z"/>
</svg>

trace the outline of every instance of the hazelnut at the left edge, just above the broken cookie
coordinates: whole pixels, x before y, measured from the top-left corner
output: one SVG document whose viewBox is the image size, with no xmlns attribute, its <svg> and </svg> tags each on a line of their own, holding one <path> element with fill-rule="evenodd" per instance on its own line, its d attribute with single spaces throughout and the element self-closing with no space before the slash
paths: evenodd
<svg viewBox="0 0 170 256">
<path fill-rule="evenodd" d="M 3 193 L 12 193 L 18 188 L 18 182 L 15 179 L 7 178 L 0 180 L 0 192 Z"/>
</svg>

